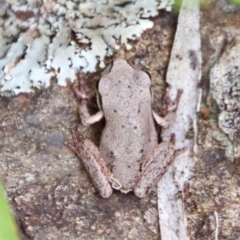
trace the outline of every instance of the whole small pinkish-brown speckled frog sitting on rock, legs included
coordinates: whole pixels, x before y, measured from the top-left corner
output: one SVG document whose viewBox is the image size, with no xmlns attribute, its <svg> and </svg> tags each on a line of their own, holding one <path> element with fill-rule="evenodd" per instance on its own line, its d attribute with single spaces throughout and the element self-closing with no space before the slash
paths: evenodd
<svg viewBox="0 0 240 240">
<path fill-rule="evenodd" d="M 74 132 L 72 142 L 67 143 L 83 162 L 101 197 L 110 197 L 113 189 L 145 197 L 175 157 L 174 136 L 169 142 L 158 143 L 155 122 L 163 128 L 168 122 L 152 110 L 150 76 L 116 58 L 98 83 L 101 110 L 92 116 L 86 112 L 84 89 L 75 88 L 74 92 L 80 100 L 83 125 L 105 118 L 99 147 L 90 139 L 78 139 Z M 171 111 L 177 109 L 181 92 L 170 104 Z"/>
</svg>

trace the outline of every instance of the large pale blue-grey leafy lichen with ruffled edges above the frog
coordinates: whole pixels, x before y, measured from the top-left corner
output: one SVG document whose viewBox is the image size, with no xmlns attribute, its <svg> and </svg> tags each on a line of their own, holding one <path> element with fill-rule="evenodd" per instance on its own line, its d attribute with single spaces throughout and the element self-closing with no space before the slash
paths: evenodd
<svg viewBox="0 0 240 240">
<path fill-rule="evenodd" d="M 79 71 L 95 72 L 121 45 L 131 49 L 172 0 L 6 0 L 0 11 L 0 93 L 61 86 Z"/>
</svg>

